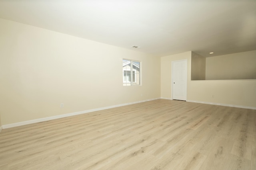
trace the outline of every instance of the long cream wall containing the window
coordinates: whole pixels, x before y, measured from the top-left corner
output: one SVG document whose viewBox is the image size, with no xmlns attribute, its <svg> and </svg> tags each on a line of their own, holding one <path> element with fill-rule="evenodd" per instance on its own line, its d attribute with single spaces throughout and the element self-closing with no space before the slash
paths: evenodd
<svg viewBox="0 0 256 170">
<path fill-rule="evenodd" d="M 159 57 L 13 21 L 0 25 L 2 125 L 160 97 Z M 123 86 L 122 58 L 142 62 L 142 86 Z"/>
</svg>

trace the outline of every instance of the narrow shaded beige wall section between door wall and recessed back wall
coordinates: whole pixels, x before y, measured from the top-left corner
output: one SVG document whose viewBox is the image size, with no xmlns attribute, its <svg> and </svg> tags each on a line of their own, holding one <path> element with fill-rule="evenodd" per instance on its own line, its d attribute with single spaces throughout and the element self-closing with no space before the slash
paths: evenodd
<svg viewBox="0 0 256 170">
<path fill-rule="evenodd" d="M 205 80 L 206 58 L 192 51 L 191 80 Z"/>
</svg>

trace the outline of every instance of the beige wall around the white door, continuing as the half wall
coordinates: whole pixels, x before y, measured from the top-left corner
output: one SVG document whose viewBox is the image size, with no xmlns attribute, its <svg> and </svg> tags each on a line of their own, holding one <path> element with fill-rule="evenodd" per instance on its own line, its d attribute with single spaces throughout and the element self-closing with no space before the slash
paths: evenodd
<svg viewBox="0 0 256 170">
<path fill-rule="evenodd" d="M 162 98 L 172 98 L 172 61 L 182 59 L 188 59 L 188 101 L 256 108 L 256 80 L 190 80 L 191 51 L 161 57 Z"/>
</svg>

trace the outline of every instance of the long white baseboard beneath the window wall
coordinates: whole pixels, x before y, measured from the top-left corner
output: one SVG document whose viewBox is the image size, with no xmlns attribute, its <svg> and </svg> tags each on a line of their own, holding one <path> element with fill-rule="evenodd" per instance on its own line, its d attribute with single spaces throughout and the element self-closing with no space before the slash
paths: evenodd
<svg viewBox="0 0 256 170">
<path fill-rule="evenodd" d="M 158 99 L 160 99 L 160 98 L 141 100 L 141 101 L 138 101 L 138 102 L 118 104 L 118 105 L 114 105 L 114 106 L 100 107 L 100 108 L 97 108 L 97 109 L 90 109 L 90 110 L 78 111 L 78 112 L 74 112 L 74 113 L 67 113 L 67 114 L 63 114 L 63 115 L 44 117 L 44 118 L 34 119 L 34 120 L 29 120 L 29 121 L 22 121 L 22 122 L 18 122 L 18 123 L 2 125 L 2 129 L 7 129 L 7 128 L 10 128 L 10 127 L 16 127 L 16 126 L 22 126 L 22 125 L 28 125 L 28 124 L 32 124 L 32 123 L 38 123 L 38 122 L 48 121 L 48 120 L 53 120 L 53 119 L 59 119 L 59 118 L 62 118 L 62 117 L 68 117 L 68 116 L 73 116 L 73 115 L 80 115 L 80 114 L 89 113 L 89 112 L 93 112 L 93 111 L 111 109 L 111 108 L 114 108 L 114 107 L 126 106 L 126 105 L 130 105 L 130 104 L 138 104 L 138 103 L 148 102 L 148 101 L 151 101 L 151 100 L 158 100 Z"/>
</svg>

